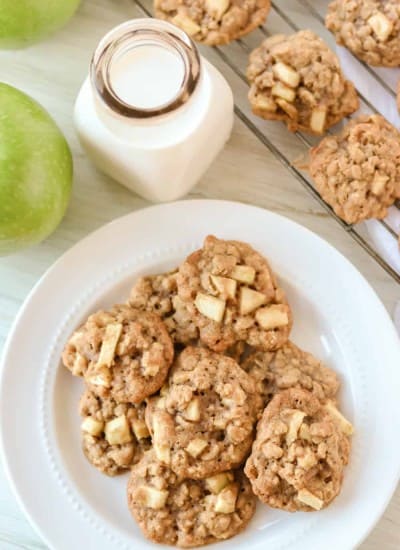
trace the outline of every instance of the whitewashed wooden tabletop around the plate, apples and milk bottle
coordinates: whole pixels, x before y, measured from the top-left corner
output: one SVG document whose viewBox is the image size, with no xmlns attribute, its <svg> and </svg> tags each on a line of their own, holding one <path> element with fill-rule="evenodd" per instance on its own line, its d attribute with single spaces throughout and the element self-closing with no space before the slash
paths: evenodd
<svg viewBox="0 0 400 550">
<path fill-rule="evenodd" d="M 71 116 L 98 40 L 134 15 L 133 0 L 84 0 L 73 21 L 50 40 L 24 51 L 0 52 L 0 79 L 26 91 L 49 110 L 65 132 L 75 161 L 73 196 L 58 230 L 40 246 L 0 259 L 0 348 L 24 298 L 64 251 L 101 225 L 147 204 L 95 170 L 78 144 Z M 190 197 L 251 203 L 307 226 L 352 260 L 392 312 L 399 287 L 239 120 L 226 149 Z M 21 512 L 0 465 L 0 550 L 8 548 L 45 546 Z M 400 548 L 399 491 L 361 548 Z"/>
</svg>

